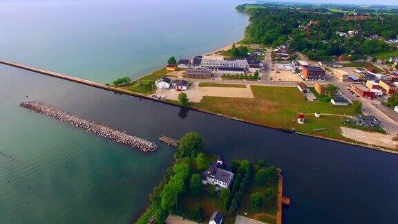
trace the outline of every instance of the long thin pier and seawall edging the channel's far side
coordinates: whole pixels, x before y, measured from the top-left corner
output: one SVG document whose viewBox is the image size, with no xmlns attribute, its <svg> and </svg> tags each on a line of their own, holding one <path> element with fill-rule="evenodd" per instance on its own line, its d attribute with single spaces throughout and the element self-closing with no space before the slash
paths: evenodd
<svg viewBox="0 0 398 224">
<path fill-rule="evenodd" d="M 265 127 L 265 128 L 268 128 L 268 129 L 274 129 L 276 131 L 282 131 L 282 132 L 285 132 L 285 133 L 293 133 L 293 131 L 289 130 L 289 129 L 279 128 L 279 127 L 272 127 L 270 125 L 259 124 L 259 123 L 256 123 L 256 122 L 251 122 L 251 121 L 248 121 L 248 120 L 242 120 L 242 119 L 239 119 L 239 118 L 233 118 L 233 117 L 229 117 L 227 115 L 223 115 L 223 114 L 220 114 L 220 113 L 213 113 L 213 112 L 210 112 L 210 111 L 197 109 L 197 108 L 194 108 L 194 107 L 191 107 L 191 106 L 181 106 L 180 104 L 177 104 L 177 103 L 174 103 L 174 102 L 153 99 L 152 97 L 149 97 L 149 96 L 141 94 L 141 93 L 135 93 L 135 92 L 127 91 L 127 90 L 124 90 L 124 89 L 121 89 L 121 88 L 115 88 L 113 86 L 106 86 L 105 84 L 101 84 L 99 82 L 93 82 L 91 80 L 84 80 L 82 78 L 77 78 L 77 77 L 73 77 L 73 76 L 70 76 L 70 75 L 64 75 L 64 74 L 61 74 L 61 73 L 55 73 L 55 72 L 51 72 L 51 71 L 46 71 L 46 70 L 41 69 L 41 68 L 35 68 L 35 67 L 32 67 L 32 66 L 26 66 L 26 65 L 23 65 L 23 64 L 17 64 L 17 63 L 7 62 L 7 61 L 3 61 L 3 60 L 0 60 L 0 64 L 5 64 L 5 65 L 12 66 L 12 67 L 15 67 L 15 68 L 20 68 L 20 69 L 23 69 L 23 70 L 32 71 L 34 73 L 38 73 L 38 74 L 41 74 L 41 75 L 48 75 L 50 77 L 57 77 L 57 78 L 59 78 L 61 80 L 66 80 L 66 81 L 70 81 L 70 82 L 76 82 L 76 83 L 79 83 L 79 84 L 84 84 L 86 86 L 91 86 L 91 87 L 95 87 L 95 88 L 104 89 L 106 91 L 111 91 L 113 93 L 131 95 L 133 97 L 140 97 L 142 99 L 151 100 L 153 102 L 160 102 L 162 104 L 168 104 L 168 105 L 171 105 L 171 106 L 177 106 L 179 108 L 190 109 L 191 111 L 198 111 L 200 113 L 207 113 L 209 115 L 216 115 L 218 117 L 228 118 L 228 119 L 231 119 L 231 120 L 236 120 L 238 122 L 244 122 L 246 124 L 256 125 L 258 127 Z M 339 139 L 334 139 L 334 138 L 326 138 L 326 137 L 323 137 L 323 136 L 314 136 L 314 135 L 311 135 L 311 134 L 300 133 L 300 132 L 296 132 L 296 131 L 294 131 L 294 133 L 297 133 L 297 134 L 299 134 L 301 136 L 308 136 L 308 137 L 312 137 L 312 138 L 330 140 L 330 141 L 339 142 L 339 143 L 343 143 L 343 144 L 351 144 L 353 146 L 364 147 L 364 148 L 367 148 L 367 149 L 374 149 L 374 150 L 383 151 L 383 152 L 387 152 L 387 153 L 398 154 L 398 151 L 396 151 L 394 149 L 376 147 L 376 146 L 373 146 L 373 145 L 370 146 L 368 144 L 364 144 L 364 143 L 361 143 L 361 142 L 357 142 L 357 143 L 348 142 L 348 141 L 345 141 L 345 140 L 339 140 Z"/>
</svg>

